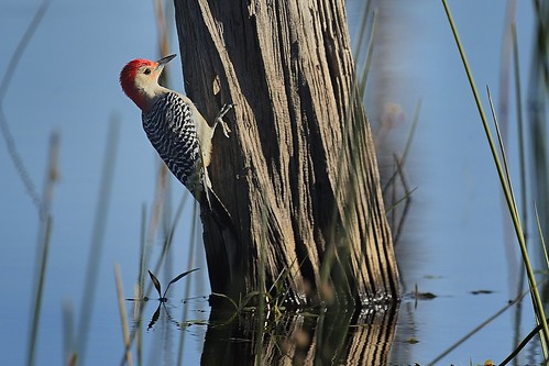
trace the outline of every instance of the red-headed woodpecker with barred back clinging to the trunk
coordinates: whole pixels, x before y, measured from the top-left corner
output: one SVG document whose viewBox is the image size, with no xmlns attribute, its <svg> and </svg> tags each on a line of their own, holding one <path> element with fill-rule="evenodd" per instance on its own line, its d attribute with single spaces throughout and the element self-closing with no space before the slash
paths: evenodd
<svg viewBox="0 0 549 366">
<path fill-rule="evenodd" d="M 210 126 L 190 99 L 158 85 L 164 66 L 175 56 L 157 62 L 131 60 L 120 73 L 120 85 L 141 109 L 143 129 L 168 169 L 197 201 L 212 210 L 217 220 L 227 221 L 230 215 L 211 190 L 207 167 L 210 165 L 211 138 L 218 124 L 229 137 L 230 130 L 222 118 L 232 104 L 223 106 Z"/>
</svg>

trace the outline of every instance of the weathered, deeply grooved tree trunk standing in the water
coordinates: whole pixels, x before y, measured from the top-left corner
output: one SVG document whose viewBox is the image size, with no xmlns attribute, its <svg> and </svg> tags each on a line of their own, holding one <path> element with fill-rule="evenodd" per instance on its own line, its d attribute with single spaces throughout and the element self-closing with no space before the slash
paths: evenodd
<svg viewBox="0 0 549 366">
<path fill-rule="evenodd" d="M 344 2 L 175 0 L 175 9 L 188 96 L 210 120 L 237 104 L 231 137 L 215 137 L 210 177 L 238 243 L 223 243 L 202 212 L 212 290 L 275 284 L 297 306 L 396 299 Z"/>
</svg>

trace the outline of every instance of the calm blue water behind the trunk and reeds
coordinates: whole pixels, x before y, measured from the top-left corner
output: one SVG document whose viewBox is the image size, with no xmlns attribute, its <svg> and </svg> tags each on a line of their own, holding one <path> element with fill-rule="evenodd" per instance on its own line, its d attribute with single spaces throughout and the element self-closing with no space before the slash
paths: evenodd
<svg viewBox="0 0 549 366">
<path fill-rule="evenodd" d="M 0 4 L 0 70 L 31 21 L 36 1 L 8 0 Z M 359 20 L 361 2 L 349 1 L 351 29 Z M 505 5 L 501 1 L 451 3 L 476 82 L 498 95 L 498 65 Z M 505 228 L 499 187 L 482 126 L 476 115 L 450 29 L 439 1 L 403 7 L 388 2 L 378 18 L 383 42 L 369 88 L 367 108 L 381 151 L 402 153 L 414 109 L 422 100 L 420 121 L 406 164 L 413 206 L 405 234 L 397 246 L 403 289 L 417 285 L 433 300 L 410 297 L 399 307 L 394 364 L 429 363 L 461 336 L 503 308 L 515 296 L 516 260 L 505 249 Z M 529 2 L 517 9 L 520 57 L 527 74 L 534 25 Z M 172 44 L 172 51 L 178 46 Z M 150 210 L 155 187 L 156 160 L 140 125 L 135 107 L 120 91 L 118 74 L 134 57 L 154 58 L 156 27 L 151 2 L 105 0 L 94 3 L 56 0 L 52 3 L 17 69 L 3 101 L 3 113 L 30 178 L 41 192 L 50 134 L 61 134 L 59 180 L 53 199 L 53 231 L 37 343 L 37 365 L 62 364 L 64 309 L 74 309 L 78 333 L 89 246 L 109 130 L 120 120 L 116 173 L 108 210 L 102 256 L 95 271 L 97 291 L 91 304 L 86 361 L 111 365 L 122 357 L 123 342 L 116 299 L 113 265 L 120 264 L 124 296 L 133 297 L 139 268 L 142 209 Z M 174 64 L 177 66 L 178 64 Z M 180 86 L 178 67 L 172 84 Z M 527 79 L 524 77 L 524 79 Z M 180 89 L 179 87 L 175 87 Z M 486 98 L 483 97 L 485 101 Z M 383 106 L 393 103 L 402 114 L 395 125 L 380 127 Z M 509 115 L 514 115 L 513 109 Z M 509 140 L 515 131 L 509 129 Z M 404 137 L 403 137 L 404 136 Z M 512 156 L 516 152 L 509 145 Z M 381 157 L 381 168 L 389 170 Z M 515 159 L 512 164 L 516 167 Z M 516 168 L 515 168 L 516 170 Z M 30 329 L 31 293 L 39 241 L 36 209 L 21 184 L 6 143 L 0 143 L 0 364 L 25 361 Z M 173 206 L 183 196 L 173 185 Z M 163 284 L 189 268 L 201 270 L 173 286 L 168 310 L 144 333 L 144 362 L 169 365 L 184 342 L 185 365 L 196 365 L 202 352 L 206 326 L 175 321 L 208 319 L 204 296 L 209 293 L 204 253 L 196 246 L 189 260 L 188 237 L 193 209 L 184 209 Z M 161 244 L 161 236 L 153 243 Z M 152 256 L 160 245 L 152 248 Z M 490 290 L 492 293 L 472 295 Z M 183 301 L 187 299 L 187 301 Z M 127 303 L 129 314 L 132 302 Z M 147 302 L 144 325 L 157 303 Z M 67 313 L 67 312 L 66 312 Z M 68 311 L 68 313 L 72 313 Z M 169 315 L 168 315 L 169 314 Z M 470 359 L 503 359 L 513 350 L 514 312 L 507 312 L 443 358 L 440 364 L 464 365 Z M 529 302 L 523 307 L 521 335 L 532 328 Z M 180 336 L 184 340 L 180 341 Z M 416 339 L 416 344 L 408 340 Z M 245 342 L 245 341 L 243 341 Z M 153 352 L 152 350 L 156 350 Z M 162 350 L 158 356 L 158 350 Z M 525 351 L 524 361 L 539 359 L 538 348 Z"/>
</svg>

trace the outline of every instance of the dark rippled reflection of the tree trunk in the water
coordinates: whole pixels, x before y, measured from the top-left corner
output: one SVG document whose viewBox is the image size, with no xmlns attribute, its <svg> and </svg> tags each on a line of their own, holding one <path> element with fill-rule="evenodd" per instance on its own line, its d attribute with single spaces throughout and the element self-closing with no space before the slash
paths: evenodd
<svg viewBox="0 0 549 366">
<path fill-rule="evenodd" d="M 266 326 L 257 326 L 259 319 L 251 313 L 217 325 L 227 318 L 212 312 L 200 364 L 387 365 L 396 311 L 293 314 L 267 321 Z"/>
</svg>

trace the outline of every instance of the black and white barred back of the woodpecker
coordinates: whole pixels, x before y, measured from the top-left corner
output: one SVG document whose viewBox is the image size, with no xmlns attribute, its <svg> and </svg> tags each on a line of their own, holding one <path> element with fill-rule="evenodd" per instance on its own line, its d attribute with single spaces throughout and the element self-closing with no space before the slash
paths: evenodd
<svg viewBox="0 0 549 366">
<path fill-rule="evenodd" d="M 204 171 L 190 107 L 175 92 L 158 97 L 142 114 L 143 129 L 168 169 L 196 196 Z"/>
</svg>

